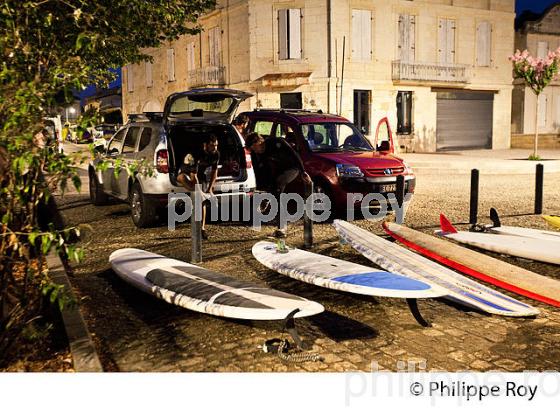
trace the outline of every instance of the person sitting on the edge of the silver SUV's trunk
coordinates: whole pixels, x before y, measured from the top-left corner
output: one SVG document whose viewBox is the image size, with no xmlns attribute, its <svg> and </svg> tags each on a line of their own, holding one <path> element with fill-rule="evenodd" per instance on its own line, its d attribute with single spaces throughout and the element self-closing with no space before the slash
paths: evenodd
<svg viewBox="0 0 560 410">
<path fill-rule="evenodd" d="M 196 185 L 200 184 L 203 195 L 202 206 L 202 238 L 208 239 L 206 233 L 206 206 L 208 196 L 213 195 L 214 185 L 218 178 L 218 162 L 220 152 L 218 151 L 218 137 L 207 135 L 202 143 L 202 149 L 187 153 L 179 169 L 177 182 L 187 191 L 194 192 Z"/>
</svg>

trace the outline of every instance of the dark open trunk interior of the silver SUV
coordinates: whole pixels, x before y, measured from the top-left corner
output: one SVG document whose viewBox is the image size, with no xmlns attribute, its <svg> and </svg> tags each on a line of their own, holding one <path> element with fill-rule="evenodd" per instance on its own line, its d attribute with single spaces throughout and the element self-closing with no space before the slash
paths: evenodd
<svg viewBox="0 0 560 410">
<path fill-rule="evenodd" d="M 229 124 L 177 124 L 169 128 L 169 176 L 177 185 L 177 175 L 185 155 L 202 148 L 204 137 L 210 134 L 218 137 L 218 180 L 220 182 L 240 181 L 246 178 L 245 150 L 235 129 Z"/>
</svg>

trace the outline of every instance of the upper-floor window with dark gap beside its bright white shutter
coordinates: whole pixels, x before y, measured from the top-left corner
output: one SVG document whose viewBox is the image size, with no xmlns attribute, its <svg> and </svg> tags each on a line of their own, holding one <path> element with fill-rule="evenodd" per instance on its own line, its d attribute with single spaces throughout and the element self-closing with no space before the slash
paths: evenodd
<svg viewBox="0 0 560 410">
<path fill-rule="evenodd" d="M 278 55 L 280 60 L 301 58 L 301 9 L 278 10 Z"/>
</svg>

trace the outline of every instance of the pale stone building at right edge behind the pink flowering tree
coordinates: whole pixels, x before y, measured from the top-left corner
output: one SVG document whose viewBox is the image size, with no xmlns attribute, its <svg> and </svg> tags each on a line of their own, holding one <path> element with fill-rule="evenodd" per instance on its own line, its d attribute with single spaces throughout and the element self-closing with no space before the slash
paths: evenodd
<svg viewBox="0 0 560 410">
<path fill-rule="evenodd" d="M 525 14 L 516 22 L 515 48 L 546 57 L 560 47 L 560 3 L 540 15 Z M 522 80 L 516 80 L 512 102 L 512 146 L 528 148 L 533 144 L 537 97 Z M 560 80 L 550 83 L 539 97 L 538 127 L 543 134 L 539 146 L 560 148 Z"/>
</svg>

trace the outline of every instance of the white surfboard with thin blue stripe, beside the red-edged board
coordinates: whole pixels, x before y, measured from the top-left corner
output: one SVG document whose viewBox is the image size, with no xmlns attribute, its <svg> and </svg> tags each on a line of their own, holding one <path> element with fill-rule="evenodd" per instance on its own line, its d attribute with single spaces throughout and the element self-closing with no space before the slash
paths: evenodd
<svg viewBox="0 0 560 410">
<path fill-rule="evenodd" d="M 334 221 L 340 237 L 376 265 L 441 288 L 446 297 L 487 313 L 534 316 L 539 311 L 509 296 L 481 285 L 451 269 L 395 243 L 341 220 Z"/>
</svg>

